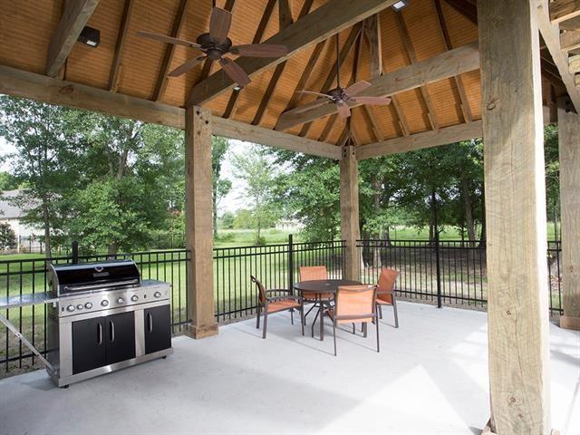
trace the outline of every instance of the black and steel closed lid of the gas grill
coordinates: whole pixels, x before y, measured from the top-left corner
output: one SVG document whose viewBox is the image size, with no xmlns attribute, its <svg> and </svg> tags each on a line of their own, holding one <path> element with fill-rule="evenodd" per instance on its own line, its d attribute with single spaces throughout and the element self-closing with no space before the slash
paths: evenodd
<svg viewBox="0 0 580 435">
<path fill-rule="evenodd" d="M 140 285 L 139 269 L 131 259 L 73 265 L 50 265 L 51 284 L 56 295 Z"/>
</svg>

